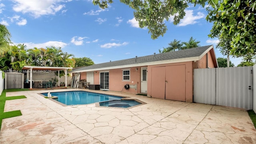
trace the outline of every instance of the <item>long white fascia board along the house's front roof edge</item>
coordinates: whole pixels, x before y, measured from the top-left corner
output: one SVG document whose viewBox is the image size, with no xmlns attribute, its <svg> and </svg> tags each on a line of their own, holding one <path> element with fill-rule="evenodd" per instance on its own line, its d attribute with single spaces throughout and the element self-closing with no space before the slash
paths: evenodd
<svg viewBox="0 0 256 144">
<path fill-rule="evenodd" d="M 195 61 L 195 60 L 200 60 L 198 56 L 196 57 L 190 57 L 190 58 L 178 58 L 178 59 L 173 59 L 173 60 L 160 60 L 156 62 L 144 62 L 144 63 L 139 63 L 139 64 L 128 64 L 128 65 L 123 65 L 123 66 L 112 66 L 112 67 L 106 67 L 106 68 L 95 68 L 95 69 L 88 69 L 88 70 L 78 70 L 74 72 L 69 72 L 69 73 L 79 73 L 79 72 L 91 72 L 91 71 L 100 71 L 100 70 L 111 70 L 111 69 L 118 69 L 118 68 L 131 68 L 131 67 L 136 67 L 136 66 L 151 66 L 151 65 L 157 65 L 157 64 L 171 64 L 171 63 L 177 63 L 177 62 L 190 62 L 190 61 Z"/>
</svg>

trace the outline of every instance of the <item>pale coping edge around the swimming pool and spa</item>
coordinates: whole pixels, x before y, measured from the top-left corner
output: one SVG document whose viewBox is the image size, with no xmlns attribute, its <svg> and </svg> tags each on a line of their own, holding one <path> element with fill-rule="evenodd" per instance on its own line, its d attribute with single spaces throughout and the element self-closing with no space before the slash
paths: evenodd
<svg viewBox="0 0 256 144">
<path fill-rule="evenodd" d="M 84 92 L 88 92 L 86 90 L 68 90 L 68 91 L 56 91 L 56 92 L 71 92 L 71 91 L 84 91 Z M 55 91 L 54 91 L 55 92 Z M 41 92 L 41 93 L 47 93 L 47 92 Z M 46 97 L 44 96 L 43 94 L 41 93 L 37 93 L 39 94 L 40 96 L 43 96 L 43 97 Z M 91 93 L 97 93 L 97 94 L 105 94 L 105 93 L 101 93 L 101 92 L 91 92 Z M 109 95 L 109 96 L 119 96 L 117 94 L 105 94 L 105 95 Z M 119 96 L 119 97 L 123 97 L 121 98 L 121 100 L 136 100 L 142 104 L 138 104 L 136 106 L 141 106 L 141 105 L 144 105 L 144 104 L 147 104 L 146 102 L 142 102 L 141 100 L 138 100 L 138 99 L 128 99 L 128 98 L 131 98 L 129 96 Z M 58 98 L 58 96 L 52 96 L 51 98 L 47 98 L 49 100 L 52 100 L 53 102 L 56 102 L 57 104 L 60 104 L 61 106 L 83 106 L 83 105 L 90 105 L 90 104 L 76 104 L 76 105 L 66 105 L 66 104 L 63 104 L 62 102 L 59 102 L 57 100 L 54 100 L 53 98 Z M 112 100 L 110 100 L 112 101 Z M 108 101 L 102 101 L 102 102 L 108 102 Z M 91 104 L 95 104 L 96 107 L 102 107 L 102 108 L 118 108 L 118 107 L 109 107 L 109 106 L 100 106 L 100 102 L 95 102 L 95 103 L 91 103 Z M 129 109 L 129 108 L 134 108 L 136 106 L 131 106 L 131 107 L 128 107 L 128 108 L 122 108 L 122 109 Z"/>
</svg>

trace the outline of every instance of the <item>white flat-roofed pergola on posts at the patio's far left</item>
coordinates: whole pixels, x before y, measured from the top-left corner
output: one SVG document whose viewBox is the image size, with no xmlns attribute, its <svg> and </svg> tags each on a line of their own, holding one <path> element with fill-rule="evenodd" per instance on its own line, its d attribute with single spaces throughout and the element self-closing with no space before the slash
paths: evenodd
<svg viewBox="0 0 256 144">
<path fill-rule="evenodd" d="M 72 69 L 71 67 L 49 67 L 49 66 L 24 66 L 22 70 L 30 70 L 30 89 L 32 89 L 32 71 L 33 70 L 58 70 L 58 81 L 60 80 L 60 70 L 64 70 L 65 73 L 65 88 L 67 88 L 67 70 Z M 28 73 L 28 71 L 27 71 Z M 60 86 L 60 83 L 58 83 Z"/>
</svg>

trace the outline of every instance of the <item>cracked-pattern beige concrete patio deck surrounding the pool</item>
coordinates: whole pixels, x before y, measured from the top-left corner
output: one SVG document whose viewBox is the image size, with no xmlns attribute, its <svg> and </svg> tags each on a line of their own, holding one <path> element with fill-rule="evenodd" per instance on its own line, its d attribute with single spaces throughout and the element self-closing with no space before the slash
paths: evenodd
<svg viewBox="0 0 256 144">
<path fill-rule="evenodd" d="M 246 110 L 99 90 L 86 91 L 129 96 L 147 104 L 130 109 L 62 106 L 37 94 L 48 91 L 6 93 L 27 98 L 6 101 L 5 112 L 21 110 L 22 116 L 2 121 L 1 144 L 256 143 Z"/>
</svg>

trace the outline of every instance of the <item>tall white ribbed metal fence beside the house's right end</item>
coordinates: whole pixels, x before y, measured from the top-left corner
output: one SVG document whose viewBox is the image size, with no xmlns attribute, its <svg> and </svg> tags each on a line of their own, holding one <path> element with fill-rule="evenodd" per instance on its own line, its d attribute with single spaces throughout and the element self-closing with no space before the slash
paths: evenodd
<svg viewBox="0 0 256 144">
<path fill-rule="evenodd" d="M 194 69 L 194 102 L 252 109 L 252 66 Z"/>
</svg>

